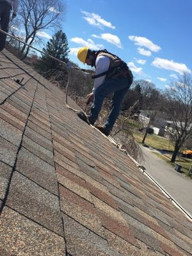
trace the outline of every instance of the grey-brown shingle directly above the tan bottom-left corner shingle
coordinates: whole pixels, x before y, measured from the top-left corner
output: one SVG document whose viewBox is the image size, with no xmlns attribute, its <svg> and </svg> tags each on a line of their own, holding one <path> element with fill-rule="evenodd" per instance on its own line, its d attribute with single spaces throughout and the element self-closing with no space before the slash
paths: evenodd
<svg viewBox="0 0 192 256">
<path fill-rule="evenodd" d="M 13 173 L 6 205 L 52 232 L 63 235 L 58 196 L 18 172 Z"/>
</svg>

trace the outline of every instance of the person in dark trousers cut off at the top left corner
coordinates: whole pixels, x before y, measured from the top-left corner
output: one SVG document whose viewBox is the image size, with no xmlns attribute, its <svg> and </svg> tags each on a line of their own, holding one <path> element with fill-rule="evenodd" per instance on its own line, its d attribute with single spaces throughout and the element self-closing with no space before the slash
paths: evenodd
<svg viewBox="0 0 192 256">
<path fill-rule="evenodd" d="M 0 28 L 8 32 L 10 22 L 10 13 L 13 10 L 12 19 L 17 16 L 18 0 L 0 0 Z M 0 51 L 3 51 L 6 41 L 6 35 L 0 33 Z"/>
</svg>

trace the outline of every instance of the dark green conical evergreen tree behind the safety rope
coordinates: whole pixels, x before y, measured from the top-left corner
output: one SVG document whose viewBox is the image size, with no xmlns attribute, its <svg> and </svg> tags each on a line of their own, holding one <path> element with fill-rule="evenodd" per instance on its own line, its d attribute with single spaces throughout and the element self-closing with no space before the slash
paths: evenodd
<svg viewBox="0 0 192 256">
<path fill-rule="evenodd" d="M 43 48 L 42 51 L 45 52 L 45 54 L 42 54 L 42 57 L 37 61 L 35 67 L 42 73 L 52 69 L 61 70 L 62 65 L 46 54 L 64 62 L 68 61 L 69 48 L 65 33 L 60 30 L 54 34 L 49 42 L 47 42 L 46 48 Z"/>
</svg>

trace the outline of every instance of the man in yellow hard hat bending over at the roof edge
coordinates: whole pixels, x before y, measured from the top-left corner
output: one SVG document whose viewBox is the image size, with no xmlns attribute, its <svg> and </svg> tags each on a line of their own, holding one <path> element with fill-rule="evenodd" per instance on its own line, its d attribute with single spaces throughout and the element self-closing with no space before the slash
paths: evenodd
<svg viewBox="0 0 192 256">
<path fill-rule="evenodd" d="M 97 129 L 108 136 L 118 118 L 124 96 L 132 84 L 132 72 L 124 61 L 107 50 L 92 51 L 88 47 L 83 47 L 77 52 L 77 58 L 81 62 L 95 67 L 95 76 L 92 77 L 94 86 L 92 93 L 88 95 L 88 102 L 93 102 L 88 115 L 90 124 L 95 124 L 102 102 L 109 93 L 113 93 L 111 111 L 106 122 L 102 126 L 95 125 Z M 84 120 L 81 113 L 78 116 Z"/>
</svg>

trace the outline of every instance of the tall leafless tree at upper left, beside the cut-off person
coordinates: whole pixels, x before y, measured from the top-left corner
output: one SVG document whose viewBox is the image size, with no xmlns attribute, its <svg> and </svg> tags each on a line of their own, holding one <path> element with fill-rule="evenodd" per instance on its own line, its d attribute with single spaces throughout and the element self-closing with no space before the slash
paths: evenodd
<svg viewBox="0 0 192 256">
<path fill-rule="evenodd" d="M 32 45 L 40 40 L 40 32 L 45 29 L 59 29 L 65 6 L 59 0 L 19 0 L 19 20 L 24 26 L 24 42 Z M 29 46 L 20 49 L 20 58 L 26 58 Z"/>
</svg>

